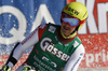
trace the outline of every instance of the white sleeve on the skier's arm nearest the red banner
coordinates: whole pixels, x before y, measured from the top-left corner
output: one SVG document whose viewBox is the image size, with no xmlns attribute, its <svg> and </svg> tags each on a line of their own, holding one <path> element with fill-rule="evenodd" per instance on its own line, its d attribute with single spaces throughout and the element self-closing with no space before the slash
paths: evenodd
<svg viewBox="0 0 108 71">
<path fill-rule="evenodd" d="M 85 49 L 81 44 L 71 55 L 70 59 L 67 61 L 64 71 L 77 71 L 81 60 L 83 59 L 84 53 Z"/>
</svg>

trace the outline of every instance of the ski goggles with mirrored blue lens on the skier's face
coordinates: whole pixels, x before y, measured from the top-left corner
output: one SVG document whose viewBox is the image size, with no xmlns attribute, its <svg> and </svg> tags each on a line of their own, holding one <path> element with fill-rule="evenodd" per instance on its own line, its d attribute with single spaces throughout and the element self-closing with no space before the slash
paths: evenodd
<svg viewBox="0 0 108 71">
<path fill-rule="evenodd" d="M 76 17 L 72 17 L 66 13 L 63 13 L 62 14 L 62 20 L 65 23 L 65 24 L 69 24 L 71 27 L 76 27 L 76 26 L 79 26 L 80 24 L 80 19 L 76 18 Z"/>
</svg>

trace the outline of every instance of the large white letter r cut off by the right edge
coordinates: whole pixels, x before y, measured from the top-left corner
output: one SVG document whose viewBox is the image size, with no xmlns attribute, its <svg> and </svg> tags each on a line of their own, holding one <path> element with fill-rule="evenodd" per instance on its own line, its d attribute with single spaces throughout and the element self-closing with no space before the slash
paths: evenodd
<svg viewBox="0 0 108 71">
<path fill-rule="evenodd" d="M 98 3 L 97 4 L 97 14 L 98 14 L 98 31 L 99 33 L 107 33 L 107 12 L 108 3 Z"/>
</svg>

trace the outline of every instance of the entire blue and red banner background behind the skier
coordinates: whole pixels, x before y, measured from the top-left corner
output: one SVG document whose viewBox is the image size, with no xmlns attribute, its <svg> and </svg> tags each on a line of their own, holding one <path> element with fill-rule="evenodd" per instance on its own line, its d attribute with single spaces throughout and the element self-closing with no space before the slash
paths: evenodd
<svg viewBox="0 0 108 71">
<path fill-rule="evenodd" d="M 89 12 L 85 25 L 78 32 L 85 47 L 78 71 L 108 71 L 108 0 L 0 0 L 0 68 L 14 45 L 40 24 L 60 25 L 63 8 L 73 1 L 83 3 Z M 25 61 L 31 48 L 13 71 Z"/>
</svg>

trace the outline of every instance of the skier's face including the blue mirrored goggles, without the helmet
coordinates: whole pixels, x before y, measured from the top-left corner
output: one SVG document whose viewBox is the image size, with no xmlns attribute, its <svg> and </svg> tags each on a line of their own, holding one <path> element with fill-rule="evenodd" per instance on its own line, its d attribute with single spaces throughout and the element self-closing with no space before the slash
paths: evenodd
<svg viewBox="0 0 108 71">
<path fill-rule="evenodd" d="M 80 24 L 80 19 L 70 16 L 66 13 L 62 13 L 60 16 L 62 19 L 62 31 L 66 37 L 71 36 L 71 33 L 76 30 L 76 28 L 79 26 Z"/>
</svg>

